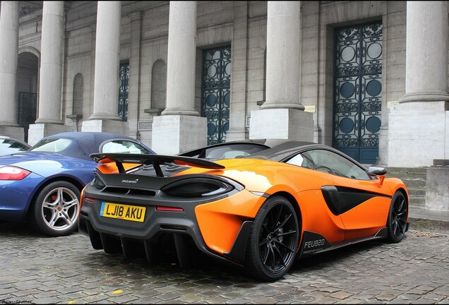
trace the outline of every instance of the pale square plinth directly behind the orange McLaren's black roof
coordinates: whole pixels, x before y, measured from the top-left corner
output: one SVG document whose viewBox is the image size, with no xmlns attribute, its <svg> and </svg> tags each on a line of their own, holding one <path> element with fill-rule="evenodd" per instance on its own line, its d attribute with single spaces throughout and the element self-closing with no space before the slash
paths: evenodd
<svg viewBox="0 0 449 305">
<path fill-rule="evenodd" d="M 297 109 L 261 109 L 251 112 L 249 138 L 280 138 L 313 142 L 313 113 Z"/>
</svg>

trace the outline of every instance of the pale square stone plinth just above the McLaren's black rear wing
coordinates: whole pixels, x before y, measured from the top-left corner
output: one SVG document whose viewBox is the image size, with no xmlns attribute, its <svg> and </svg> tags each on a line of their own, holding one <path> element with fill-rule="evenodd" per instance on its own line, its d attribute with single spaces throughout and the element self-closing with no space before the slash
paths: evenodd
<svg viewBox="0 0 449 305">
<path fill-rule="evenodd" d="M 206 120 L 201 116 L 155 116 L 152 122 L 151 149 L 160 155 L 176 155 L 207 145 Z"/>
</svg>

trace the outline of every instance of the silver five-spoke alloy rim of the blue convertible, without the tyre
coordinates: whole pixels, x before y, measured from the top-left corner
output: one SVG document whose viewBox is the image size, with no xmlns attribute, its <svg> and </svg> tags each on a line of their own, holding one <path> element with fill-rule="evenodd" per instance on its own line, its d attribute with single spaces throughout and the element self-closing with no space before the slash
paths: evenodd
<svg viewBox="0 0 449 305">
<path fill-rule="evenodd" d="M 58 187 L 47 193 L 42 202 L 42 220 L 55 231 L 64 231 L 76 225 L 80 201 L 71 189 Z"/>
</svg>

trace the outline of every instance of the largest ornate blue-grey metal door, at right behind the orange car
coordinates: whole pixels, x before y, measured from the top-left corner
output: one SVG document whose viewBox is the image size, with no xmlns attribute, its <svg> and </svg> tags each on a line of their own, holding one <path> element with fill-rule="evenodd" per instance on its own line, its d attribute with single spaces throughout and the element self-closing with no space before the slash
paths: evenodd
<svg viewBox="0 0 449 305">
<path fill-rule="evenodd" d="M 382 23 L 335 29 L 333 147 L 376 163 L 381 129 Z"/>
</svg>

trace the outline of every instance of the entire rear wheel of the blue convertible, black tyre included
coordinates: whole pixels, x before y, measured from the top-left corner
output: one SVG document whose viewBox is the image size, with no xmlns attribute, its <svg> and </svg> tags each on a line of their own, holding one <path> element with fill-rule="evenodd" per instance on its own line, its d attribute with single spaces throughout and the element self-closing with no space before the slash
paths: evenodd
<svg viewBox="0 0 449 305">
<path fill-rule="evenodd" d="M 71 234 L 78 228 L 80 190 L 67 181 L 44 186 L 32 203 L 32 222 L 49 237 Z"/>
</svg>

